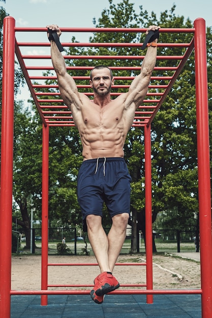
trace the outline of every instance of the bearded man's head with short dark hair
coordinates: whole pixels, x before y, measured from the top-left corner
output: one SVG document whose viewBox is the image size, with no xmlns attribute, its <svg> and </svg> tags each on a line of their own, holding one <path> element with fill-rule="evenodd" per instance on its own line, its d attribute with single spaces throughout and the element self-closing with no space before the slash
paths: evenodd
<svg viewBox="0 0 212 318">
<path fill-rule="evenodd" d="M 113 85 L 114 79 L 111 79 L 110 71 L 107 68 L 94 70 L 92 72 L 92 80 L 90 86 L 99 96 L 106 96 Z"/>
</svg>

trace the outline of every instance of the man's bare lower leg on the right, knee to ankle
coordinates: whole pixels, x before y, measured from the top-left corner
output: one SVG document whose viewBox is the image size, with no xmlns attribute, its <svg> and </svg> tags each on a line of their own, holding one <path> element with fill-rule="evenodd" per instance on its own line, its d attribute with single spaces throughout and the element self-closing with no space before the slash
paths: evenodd
<svg viewBox="0 0 212 318">
<path fill-rule="evenodd" d="M 115 266 L 119 253 L 126 239 L 126 229 L 128 225 L 129 214 L 121 213 L 112 217 L 112 227 L 108 233 L 108 259 L 111 272 Z"/>
</svg>

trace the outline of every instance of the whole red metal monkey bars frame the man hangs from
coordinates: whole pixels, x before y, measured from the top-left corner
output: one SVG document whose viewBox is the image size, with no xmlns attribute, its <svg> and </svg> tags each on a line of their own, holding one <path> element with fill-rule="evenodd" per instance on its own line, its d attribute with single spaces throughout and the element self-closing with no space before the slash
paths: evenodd
<svg viewBox="0 0 212 318">
<path fill-rule="evenodd" d="M 122 32 L 142 33 L 141 28 L 62 28 L 64 35 L 68 32 Z M 182 48 L 181 55 L 157 56 L 159 60 L 167 61 L 165 67 L 155 67 L 155 74 L 151 77 L 151 84 L 146 100 L 135 112 L 133 126 L 144 128 L 145 139 L 145 198 L 146 198 L 146 290 L 117 290 L 114 294 L 146 294 L 147 302 L 153 302 L 154 294 L 201 294 L 202 317 L 208 318 L 212 314 L 212 238 L 211 238 L 211 202 L 210 202 L 210 167 L 209 167 L 209 130 L 208 130 L 208 101 L 207 101 L 207 66 L 206 66 L 206 35 L 205 21 L 198 18 L 194 22 L 194 28 L 170 28 L 161 29 L 161 33 L 186 33 L 191 34 L 190 43 L 159 43 L 159 47 Z M 4 20 L 4 51 L 3 51 L 3 99 L 2 99 L 2 158 L 1 158 L 1 202 L 0 202 L 0 316 L 10 317 L 11 295 L 39 294 L 42 295 L 42 305 L 47 304 L 47 295 L 50 294 L 88 294 L 89 291 L 50 291 L 48 287 L 56 285 L 48 284 L 48 136 L 50 126 L 74 126 L 70 110 L 59 99 L 58 85 L 46 84 L 47 80 L 56 79 L 53 67 L 50 63 L 49 46 L 45 43 L 18 42 L 15 33 L 41 32 L 46 36 L 46 28 L 21 28 L 15 27 L 15 20 L 6 17 Z M 193 36 L 194 35 L 194 36 Z M 33 37 L 31 36 L 31 39 Z M 64 47 L 140 47 L 140 43 L 62 43 Z M 24 55 L 24 47 L 42 47 L 46 55 Z M 164 99 L 170 91 L 174 81 L 183 69 L 192 51 L 195 50 L 195 73 L 196 73 L 196 107 L 197 107 L 197 147 L 198 147 L 198 182 L 199 182 L 199 218 L 200 218 L 200 255 L 201 255 L 201 289 L 199 290 L 153 290 L 152 268 L 152 200 L 151 200 L 151 145 L 150 124 L 161 107 Z M 41 291 L 11 291 L 11 232 L 12 232 L 12 175 L 13 175 L 13 111 L 14 111 L 14 61 L 15 53 L 28 88 L 32 94 L 39 114 L 43 122 L 43 169 L 42 169 L 42 278 Z M 142 60 L 144 56 L 134 55 L 68 55 L 65 59 L 136 59 Z M 41 62 L 42 60 L 42 62 Z M 175 60 L 175 67 L 168 61 Z M 27 65 L 33 61 L 36 66 Z M 49 64 L 48 64 L 49 62 Z M 41 66 L 41 64 L 43 66 Z M 81 76 L 73 76 L 76 80 L 88 80 L 88 71 L 92 67 L 68 67 L 68 70 L 84 71 Z M 139 67 L 111 67 L 117 75 L 117 80 L 126 80 L 125 85 L 114 85 L 116 88 L 128 88 L 129 80 L 134 77 L 132 72 L 140 70 Z M 129 72 L 129 76 L 118 75 L 119 71 Z M 43 71 L 52 71 L 43 75 Z M 35 75 L 36 74 L 36 75 Z M 82 74 L 82 72 L 80 72 Z M 126 74 L 126 73 L 125 73 Z M 164 75 L 166 74 L 166 75 Z M 40 81 L 35 84 L 34 81 Z M 155 82 L 155 83 L 154 83 Z M 164 84 L 165 83 L 165 84 Z M 77 85 L 84 89 L 87 96 L 89 85 Z M 48 89 L 48 91 L 47 91 Z M 112 92 L 113 96 L 119 93 Z M 8 244 L 4 244 L 7 238 Z M 71 266 L 73 264 L 62 264 Z M 76 264 L 75 264 L 76 265 Z M 96 265 L 96 264 L 79 264 Z M 124 264 L 117 264 L 124 265 Z M 72 286 L 72 285 L 69 285 Z M 76 285 L 77 286 L 77 285 Z M 88 285 L 84 285 L 86 287 Z M 140 287 L 141 285 L 138 285 Z M 79 287 L 79 286 L 78 286 Z"/>
</svg>

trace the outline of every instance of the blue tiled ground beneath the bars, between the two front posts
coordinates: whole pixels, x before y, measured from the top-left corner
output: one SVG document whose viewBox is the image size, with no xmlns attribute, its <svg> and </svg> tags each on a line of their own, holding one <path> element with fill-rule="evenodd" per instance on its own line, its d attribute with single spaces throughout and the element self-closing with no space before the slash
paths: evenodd
<svg viewBox="0 0 212 318">
<path fill-rule="evenodd" d="M 201 318 L 200 295 L 106 295 L 101 305 L 89 295 L 12 296 L 11 318 Z"/>
</svg>

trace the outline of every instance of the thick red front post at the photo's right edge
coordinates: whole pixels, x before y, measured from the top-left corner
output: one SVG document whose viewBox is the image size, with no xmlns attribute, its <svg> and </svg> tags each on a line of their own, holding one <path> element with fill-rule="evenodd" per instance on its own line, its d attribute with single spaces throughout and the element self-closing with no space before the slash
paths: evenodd
<svg viewBox="0 0 212 318">
<path fill-rule="evenodd" d="M 212 237 L 205 20 L 196 19 L 194 26 L 202 317 L 208 318 L 212 316 Z"/>
</svg>

